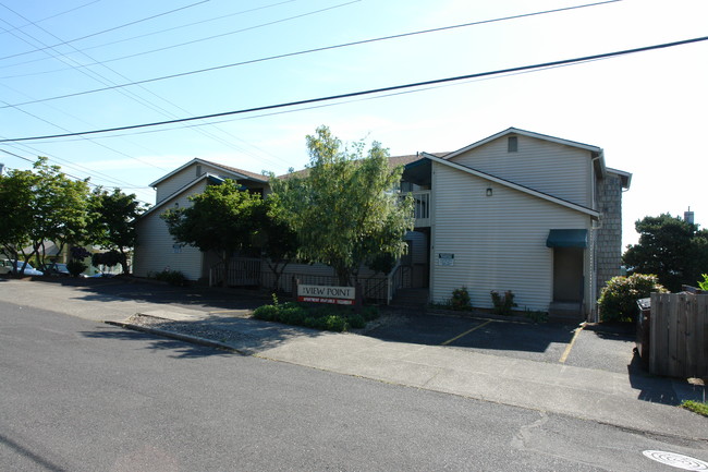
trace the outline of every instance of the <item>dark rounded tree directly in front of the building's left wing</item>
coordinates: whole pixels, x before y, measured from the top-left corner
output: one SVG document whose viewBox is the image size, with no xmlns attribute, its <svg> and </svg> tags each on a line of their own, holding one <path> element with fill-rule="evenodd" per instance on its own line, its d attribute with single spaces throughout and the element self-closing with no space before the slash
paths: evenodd
<svg viewBox="0 0 708 472">
<path fill-rule="evenodd" d="M 192 206 L 169 209 L 161 215 L 170 234 L 179 243 L 216 253 L 223 263 L 224 274 L 229 274 L 233 254 L 252 245 L 260 195 L 241 191 L 236 182 L 225 180 L 220 185 L 207 186 L 190 201 Z M 222 283 L 227 285 L 227 277 Z"/>
</svg>

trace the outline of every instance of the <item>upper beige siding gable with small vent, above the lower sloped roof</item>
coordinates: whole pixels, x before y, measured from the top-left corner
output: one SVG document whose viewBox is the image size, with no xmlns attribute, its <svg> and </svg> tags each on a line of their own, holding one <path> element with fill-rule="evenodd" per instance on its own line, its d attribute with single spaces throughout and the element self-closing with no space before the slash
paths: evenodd
<svg viewBox="0 0 708 472">
<path fill-rule="evenodd" d="M 594 207 L 589 150 L 518 135 L 518 150 L 509 153 L 506 137 L 455 156 L 451 161 Z"/>
</svg>

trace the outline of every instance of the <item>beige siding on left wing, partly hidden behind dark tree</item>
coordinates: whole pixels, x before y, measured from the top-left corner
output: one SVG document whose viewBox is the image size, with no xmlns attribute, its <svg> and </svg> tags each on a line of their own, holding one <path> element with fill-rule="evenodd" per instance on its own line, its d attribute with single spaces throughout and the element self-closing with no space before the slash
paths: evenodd
<svg viewBox="0 0 708 472">
<path fill-rule="evenodd" d="M 159 273 L 166 268 L 180 270 L 190 280 L 198 280 L 203 274 L 203 255 L 197 247 L 184 246 L 175 253 L 174 240 L 170 235 L 167 225 L 160 215 L 168 208 L 173 208 L 175 203 L 180 207 L 190 205 L 187 197 L 202 193 L 206 189 L 206 181 L 191 189 L 190 192 L 172 198 L 167 204 L 142 218 L 137 223 L 137 241 L 135 247 L 134 273 L 138 277 L 148 277 L 150 273 Z"/>
</svg>

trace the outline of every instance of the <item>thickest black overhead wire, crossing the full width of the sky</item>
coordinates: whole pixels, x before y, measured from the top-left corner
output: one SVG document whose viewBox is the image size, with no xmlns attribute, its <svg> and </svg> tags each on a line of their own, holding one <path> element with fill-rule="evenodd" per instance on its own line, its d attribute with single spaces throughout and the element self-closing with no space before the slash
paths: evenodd
<svg viewBox="0 0 708 472">
<path fill-rule="evenodd" d="M 347 94 L 340 94 L 340 95 L 331 95 L 328 97 L 319 97 L 319 98 L 308 98 L 304 100 L 296 100 L 296 101 L 289 101 L 284 104 L 278 104 L 278 105 L 266 105 L 263 107 L 254 107 L 254 108 L 244 108 L 241 110 L 232 110 L 232 111 L 222 111 L 220 113 L 210 113 L 210 114 L 202 114 L 199 117 L 190 117 L 190 118 L 181 118 L 178 120 L 168 120 L 168 121 L 156 121 L 151 123 L 143 123 L 143 124 L 131 124 L 126 126 L 117 126 L 117 128 L 106 128 L 102 130 L 90 130 L 90 131 L 84 131 L 84 132 L 78 132 L 78 133 L 66 133 L 66 134 L 50 134 L 50 135 L 45 135 L 45 136 L 32 136 L 32 137 L 15 137 L 15 138 L 10 138 L 10 140 L 0 140 L 0 143 L 14 143 L 14 142 L 21 142 L 21 141 L 37 141 L 37 140 L 51 140 L 51 138 L 57 138 L 57 137 L 70 137 L 70 136 L 78 136 L 82 134 L 98 134 L 98 133 L 110 133 L 112 131 L 123 131 L 123 130 L 135 130 L 138 128 L 148 128 L 148 126 L 161 126 L 164 124 L 174 124 L 174 123 L 184 123 L 187 121 L 195 121 L 195 120 L 207 120 L 211 118 L 219 118 L 219 117 L 228 117 L 228 116 L 233 116 L 233 114 L 243 114 L 243 113 L 249 113 L 254 111 L 264 111 L 264 110 L 272 110 L 276 108 L 285 108 L 285 107 L 293 107 L 293 106 L 298 106 L 298 105 L 306 105 L 306 104 L 316 104 L 320 101 L 329 101 L 329 100 L 337 100 L 340 98 L 351 98 L 351 97 L 358 97 L 363 95 L 371 95 L 371 94 L 379 94 L 382 92 L 392 92 L 392 90 L 402 90 L 406 88 L 414 88 L 414 87 L 422 87 L 425 85 L 434 85 L 434 84 L 443 84 L 443 83 L 449 83 L 449 82 L 456 82 L 456 81 L 464 81 L 468 78 L 477 78 L 477 77 L 485 77 L 485 76 L 490 76 L 490 75 L 499 75 L 499 74 L 508 74 L 510 72 L 521 72 L 521 71 L 529 71 L 534 69 L 540 69 L 540 68 L 550 68 L 550 66 L 556 66 L 556 65 L 563 65 L 563 64 L 572 64 L 576 62 L 586 62 L 586 61 L 593 61 L 593 60 L 598 60 L 598 59 L 606 59 L 606 58 L 612 58 L 612 57 L 618 57 L 618 56 L 626 56 L 626 55 L 632 55 L 632 53 L 637 53 L 637 52 L 646 52 L 646 51 L 651 51 L 656 49 L 666 49 L 666 48 L 672 48 L 675 46 L 683 46 L 683 45 L 688 45 L 693 43 L 701 43 L 708 40 L 708 36 L 701 36 L 698 38 L 692 38 L 692 39 L 684 39 L 681 41 L 673 41 L 673 43 L 664 43 L 660 45 L 652 45 L 652 46 L 645 46 L 642 48 L 634 48 L 634 49 L 624 49 L 621 51 L 614 51 L 614 52 L 605 52 L 601 55 L 594 55 L 594 56 L 585 56 L 582 58 L 574 58 L 574 59 L 563 59 L 560 61 L 552 61 L 552 62 L 544 62 L 539 64 L 532 64 L 532 65 L 521 65 L 517 68 L 510 68 L 510 69 L 500 69 L 496 71 L 489 71 L 489 72 L 478 72 L 475 74 L 466 74 L 466 75 L 457 75 L 455 77 L 445 77 L 445 78 L 436 78 L 432 81 L 424 81 L 424 82 L 414 82 L 410 84 L 404 84 L 404 85 L 393 85 L 390 87 L 381 87 L 381 88 L 371 88 L 368 90 L 361 90 L 361 92 L 351 92 Z"/>
</svg>

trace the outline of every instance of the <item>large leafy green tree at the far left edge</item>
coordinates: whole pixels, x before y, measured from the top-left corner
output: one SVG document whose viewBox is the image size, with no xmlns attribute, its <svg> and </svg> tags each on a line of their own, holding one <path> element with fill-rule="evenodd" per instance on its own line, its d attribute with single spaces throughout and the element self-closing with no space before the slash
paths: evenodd
<svg viewBox="0 0 708 472">
<path fill-rule="evenodd" d="M 88 181 L 74 181 L 39 157 L 33 170 L 10 170 L 0 179 L 0 215 L 8 218 L 0 243 L 12 258 L 44 263 L 45 243 L 80 242 L 87 222 Z M 4 221 L 3 221 L 4 222 Z M 27 251 L 26 247 L 29 250 Z M 24 264 L 19 267 L 24 271 Z"/>
</svg>

